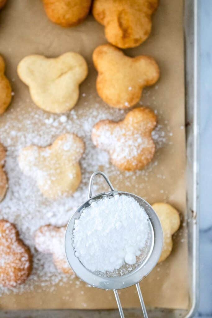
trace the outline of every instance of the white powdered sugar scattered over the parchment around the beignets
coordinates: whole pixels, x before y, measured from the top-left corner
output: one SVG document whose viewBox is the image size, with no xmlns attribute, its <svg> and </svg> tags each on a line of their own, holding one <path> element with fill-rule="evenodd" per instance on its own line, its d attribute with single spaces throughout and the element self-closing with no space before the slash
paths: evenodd
<svg viewBox="0 0 212 318">
<path fill-rule="evenodd" d="M 30 247 L 33 254 L 33 269 L 26 282 L 10 289 L 0 287 L 0 294 L 11 291 L 21 293 L 33 289 L 35 285 L 52 291 L 58 282 L 61 284 L 67 280 L 72 282 L 72 276 L 57 271 L 51 254 L 43 254 L 35 248 L 36 230 L 47 224 L 56 226 L 67 224 L 73 212 L 87 199 L 89 178 L 94 171 L 103 169 L 109 178 L 119 177 L 120 182 L 132 186 L 136 176 L 142 176 L 145 181 L 149 171 L 157 165 L 157 161 L 153 160 L 147 169 L 121 173 L 111 165 L 108 153 L 93 145 L 92 127 L 100 120 L 122 120 L 127 111 L 89 104 L 89 98 L 89 94 L 86 94 L 86 105 L 85 103 L 77 105 L 65 115 L 45 113 L 35 107 L 31 100 L 25 100 L 24 105 L 23 102 L 17 102 L 16 108 L 14 109 L 12 105 L 3 115 L 4 121 L 0 121 L 0 142 L 7 150 L 5 172 L 9 180 L 6 197 L 0 203 L 0 218 L 7 219 L 17 226 L 20 238 Z M 26 112 L 26 107 L 31 107 L 30 111 Z M 153 136 L 156 148 L 162 147 L 166 142 L 164 127 L 158 127 L 155 130 L 156 135 Z M 17 157 L 22 148 L 33 144 L 45 147 L 65 133 L 75 133 L 85 142 L 85 152 L 80 160 L 82 182 L 72 196 L 52 201 L 42 196 L 35 180 L 21 172 Z M 135 190 L 136 186 L 138 185 L 135 185 Z M 142 187 L 142 183 L 139 186 Z M 106 190 L 104 184 L 102 188 Z M 99 186 L 96 184 L 94 192 L 99 192 Z"/>
</svg>

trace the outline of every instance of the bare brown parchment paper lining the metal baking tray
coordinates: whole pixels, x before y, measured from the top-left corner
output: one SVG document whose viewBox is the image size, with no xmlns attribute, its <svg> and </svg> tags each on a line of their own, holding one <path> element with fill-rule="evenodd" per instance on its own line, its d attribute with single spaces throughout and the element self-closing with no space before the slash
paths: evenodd
<svg viewBox="0 0 212 318">
<path fill-rule="evenodd" d="M 8 0 L 0 12 L 0 53 L 3 55 L 7 71 L 15 92 L 8 112 L 26 112 L 36 106 L 29 97 L 28 88 L 18 79 L 18 62 L 28 54 L 43 54 L 56 57 L 67 51 L 82 54 L 89 64 L 89 75 L 80 90 L 89 93 L 89 107 L 99 100 L 96 89 L 96 71 L 92 64 L 92 52 L 100 44 L 106 43 L 104 29 L 90 15 L 85 22 L 74 28 L 61 28 L 46 17 L 39 0 Z M 183 1 L 161 0 L 153 17 L 150 37 L 137 48 L 126 51 L 130 56 L 147 54 L 154 57 L 161 69 L 157 86 L 147 88 L 141 100 L 143 105 L 157 110 L 159 124 L 168 127 L 167 142 L 157 150 L 156 163 L 148 177 L 135 176 L 134 186 L 121 174 L 111 181 L 116 189 L 136 193 L 151 204 L 167 201 L 180 212 L 182 219 L 186 210 L 185 187 L 185 129 L 184 129 L 184 56 L 183 56 Z M 85 97 L 86 98 L 86 97 Z M 82 97 L 75 106 L 84 107 Z M 85 110 L 86 111 L 86 110 Z M 0 125 L 7 121 L 6 114 L 0 117 Z M 114 118 L 115 120 L 115 118 Z M 24 122 L 23 122 L 24 125 Z M 104 170 L 104 167 L 101 167 Z M 160 178 L 160 175 L 165 176 Z M 132 178 L 129 176 L 129 178 Z M 131 180 L 132 181 L 132 180 Z M 142 184 L 142 187 L 140 185 Z M 183 222 L 183 221 L 182 221 Z M 186 230 L 174 237 L 171 255 L 141 282 L 144 301 L 147 306 L 164 308 L 188 308 L 187 240 Z M 183 239 L 182 239 L 183 238 Z M 42 288 L 23 294 L 3 295 L 2 309 L 28 308 L 116 308 L 112 291 L 88 288 L 83 283 L 57 286 L 53 293 Z M 69 291 L 69 297 L 66 297 Z M 120 291 L 124 307 L 137 307 L 139 300 L 135 287 Z"/>
</svg>

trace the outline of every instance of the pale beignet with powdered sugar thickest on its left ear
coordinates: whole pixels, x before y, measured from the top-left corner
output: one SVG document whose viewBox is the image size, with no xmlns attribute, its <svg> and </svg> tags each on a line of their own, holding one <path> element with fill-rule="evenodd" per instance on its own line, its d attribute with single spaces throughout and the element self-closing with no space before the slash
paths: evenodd
<svg viewBox="0 0 212 318">
<path fill-rule="evenodd" d="M 37 181 L 44 197 L 70 196 L 81 182 L 79 160 L 85 146 L 74 134 L 59 136 L 48 147 L 29 146 L 18 157 L 20 169 Z"/>
</svg>

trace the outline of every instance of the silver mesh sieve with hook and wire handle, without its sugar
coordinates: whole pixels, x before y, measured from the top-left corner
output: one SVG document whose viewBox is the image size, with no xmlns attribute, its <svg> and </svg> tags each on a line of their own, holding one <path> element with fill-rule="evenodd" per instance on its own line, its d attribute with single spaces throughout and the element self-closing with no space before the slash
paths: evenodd
<svg viewBox="0 0 212 318">
<path fill-rule="evenodd" d="M 107 184 L 111 188 L 111 191 L 100 193 L 92 197 L 93 180 L 96 175 L 101 175 L 104 177 Z M 89 207 L 93 201 L 101 200 L 104 197 L 113 197 L 115 194 L 133 197 L 133 199 L 135 199 L 140 206 L 144 208 L 149 218 L 148 238 L 146 240 L 145 246 L 140 250 L 141 254 L 136 258 L 135 264 L 128 265 L 125 263 L 118 270 L 114 270 L 113 272 L 91 272 L 80 262 L 78 257 L 75 256 L 75 251 L 72 244 L 75 220 L 80 217 L 83 210 Z M 65 253 L 69 265 L 81 280 L 93 287 L 114 291 L 121 318 L 124 318 L 124 313 L 117 290 L 130 287 L 132 285 L 136 285 L 143 315 L 145 318 L 147 318 L 147 311 L 141 294 L 139 281 L 145 278 L 157 264 L 161 255 L 162 245 L 163 231 L 161 223 L 151 205 L 148 204 L 144 199 L 132 193 L 115 191 L 111 182 L 103 172 L 97 171 L 93 173 L 89 184 L 88 200 L 79 206 L 67 225 L 65 232 Z"/>
</svg>

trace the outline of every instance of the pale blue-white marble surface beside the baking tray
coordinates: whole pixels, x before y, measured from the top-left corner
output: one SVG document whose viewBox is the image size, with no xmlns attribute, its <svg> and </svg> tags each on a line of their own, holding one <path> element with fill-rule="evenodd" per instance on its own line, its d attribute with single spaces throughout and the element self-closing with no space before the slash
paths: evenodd
<svg viewBox="0 0 212 318">
<path fill-rule="evenodd" d="M 212 317 L 212 0 L 199 0 L 200 72 L 200 304 Z"/>
</svg>

